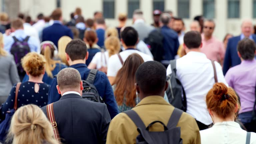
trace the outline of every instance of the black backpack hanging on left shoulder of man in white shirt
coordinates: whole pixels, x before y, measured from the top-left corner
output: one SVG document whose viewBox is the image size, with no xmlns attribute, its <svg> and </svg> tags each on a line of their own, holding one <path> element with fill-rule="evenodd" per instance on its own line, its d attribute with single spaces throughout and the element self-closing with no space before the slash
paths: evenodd
<svg viewBox="0 0 256 144">
<path fill-rule="evenodd" d="M 169 102 L 174 107 L 183 110 L 187 110 L 187 99 L 185 90 L 176 75 L 176 60 L 170 61 L 172 73 L 167 76 L 168 88 L 166 90 Z M 182 98 L 183 94 L 183 98 Z"/>
</svg>

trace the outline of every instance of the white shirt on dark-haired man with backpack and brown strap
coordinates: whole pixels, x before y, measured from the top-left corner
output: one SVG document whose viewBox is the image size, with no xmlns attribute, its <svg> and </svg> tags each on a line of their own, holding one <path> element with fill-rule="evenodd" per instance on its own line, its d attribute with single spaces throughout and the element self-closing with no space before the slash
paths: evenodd
<svg viewBox="0 0 256 144">
<path fill-rule="evenodd" d="M 215 61 L 218 82 L 227 84 L 222 68 Z M 205 125 L 212 123 L 208 113 L 205 98 L 215 83 L 211 60 L 201 52 L 188 52 L 176 61 L 176 75 L 180 80 L 187 98 L 187 113 Z M 167 68 L 167 75 L 171 74 L 171 65 Z"/>
</svg>

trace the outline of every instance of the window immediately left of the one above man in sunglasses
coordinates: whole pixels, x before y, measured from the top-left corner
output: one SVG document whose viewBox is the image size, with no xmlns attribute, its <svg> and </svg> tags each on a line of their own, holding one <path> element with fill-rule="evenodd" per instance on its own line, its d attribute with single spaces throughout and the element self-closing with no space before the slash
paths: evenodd
<svg viewBox="0 0 256 144">
<path fill-rule="evenodd" d="M 189 0 L 178 0 L 178 17 L 189 18 Z"/>
</svg>

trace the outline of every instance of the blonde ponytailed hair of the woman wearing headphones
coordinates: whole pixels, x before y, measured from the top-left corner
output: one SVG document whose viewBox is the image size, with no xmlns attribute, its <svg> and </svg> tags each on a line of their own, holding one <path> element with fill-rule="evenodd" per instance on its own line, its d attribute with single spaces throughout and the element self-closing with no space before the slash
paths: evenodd
<svg viewBox="0 0 256 144">
<path fill-rule="evenodd" d="M 49 43 L 45 43 L 41 46 L 41 54 L 44 55 L 46 63 L 45 63 L 45 72 L 51 78 L 53 78 L 52 71 L 56 67 L 56 63 L 60 63 L 60 61 L 53 60 L 54 56 L 54 47 Z"/>
</svg>

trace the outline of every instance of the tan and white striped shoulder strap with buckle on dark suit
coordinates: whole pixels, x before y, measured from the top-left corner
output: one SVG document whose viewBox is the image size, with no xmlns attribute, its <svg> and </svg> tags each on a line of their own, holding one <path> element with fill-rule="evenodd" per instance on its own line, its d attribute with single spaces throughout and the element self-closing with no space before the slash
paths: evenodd
<svg viewBox="0 0 256 144">
<path fill-rule="evenodd" d="M 57 123 L 56 123 L 55 115 L 54 115 L 54 111 L 53 111 L 53 103 L 48 104 L 46 106 L 46 112 L 47 112 L 47 118 L 53 127 L 54 138 L 60 144 L 60 135 L 59 135 L 59 131 L 58 131 L 58 127 L 57 127 Z"/>
</svg>

